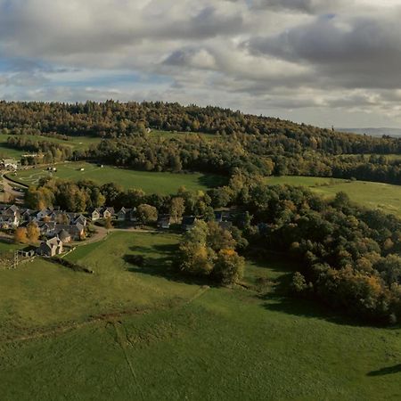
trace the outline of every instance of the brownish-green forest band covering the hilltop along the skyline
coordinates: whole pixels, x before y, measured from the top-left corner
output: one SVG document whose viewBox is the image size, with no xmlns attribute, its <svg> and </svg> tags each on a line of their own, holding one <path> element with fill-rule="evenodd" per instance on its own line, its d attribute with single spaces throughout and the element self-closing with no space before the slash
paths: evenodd
<svg viewBox="0 0 401 401">
<path fill-rule="evenodd" d="M 282 119 L 243 114 L 217 107 L 165 102 L 0 102 L 0 129 L 8 134 L 130 136 L 151 127 L 215 135 L 263 135 L 292 151 L 329 154 L 397 153 L 401 139 L 333 132 Z"/>
</svg>

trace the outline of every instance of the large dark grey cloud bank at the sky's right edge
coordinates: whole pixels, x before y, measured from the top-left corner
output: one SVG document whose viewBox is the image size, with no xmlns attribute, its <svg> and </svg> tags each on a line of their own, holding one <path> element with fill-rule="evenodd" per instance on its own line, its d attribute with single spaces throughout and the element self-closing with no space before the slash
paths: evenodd
<svg viewBox="0 0 401 401">
<path fill-rule="evenodd" d="M 251 53 L 315 66 L 341 86 L 388 87 L 401 81 L 401 28 L 398 19 L 319 18 L 276 37 L 254 37 Z"/>
</svg>

